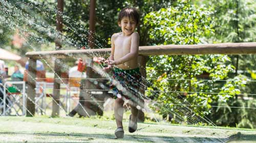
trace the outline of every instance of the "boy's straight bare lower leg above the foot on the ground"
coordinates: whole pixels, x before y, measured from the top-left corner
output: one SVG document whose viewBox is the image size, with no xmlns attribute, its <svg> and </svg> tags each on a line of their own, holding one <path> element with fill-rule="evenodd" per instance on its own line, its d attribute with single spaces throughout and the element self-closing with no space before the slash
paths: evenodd
<svg viewBox="0 0 256 143">
<path fill-rule="evenodd" d="M 114 113 L 117 127 L 123 127 L 123 103 L 124 101 L 121 98 L 115 100 Z"/>
</svg>

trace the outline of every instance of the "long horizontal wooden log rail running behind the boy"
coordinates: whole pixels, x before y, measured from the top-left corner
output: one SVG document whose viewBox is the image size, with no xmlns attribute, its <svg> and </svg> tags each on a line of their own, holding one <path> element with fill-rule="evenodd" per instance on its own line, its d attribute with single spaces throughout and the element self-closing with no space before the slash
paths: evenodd
<svg viewBox="0 0 256 143">
<path fill-rule="evenodd" d="M 56 58 L 80 58 L 108 56 L 110 48 L 83 49 L 83 50 L 58 50 L 58 51 L 33 51 L 27 52 L 26 56 L 33 59 L 55 56 Z M 256 54 L 256 42 L 250 43 L 218 43 L 200 45 L 158 45 L 140 46 L 139 54 L 148 55 L 184 55 L 184 54 Z"/>
</svg>

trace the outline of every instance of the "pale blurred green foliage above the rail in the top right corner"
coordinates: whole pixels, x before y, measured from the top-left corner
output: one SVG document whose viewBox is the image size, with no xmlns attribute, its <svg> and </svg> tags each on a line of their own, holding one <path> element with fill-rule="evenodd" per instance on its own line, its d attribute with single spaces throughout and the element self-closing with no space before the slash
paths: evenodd
<svg viewBox="0 0 256 143">
<path fill-rule="evenodd" d="M 255 0 L 211 0 L 206 3 L 215 9 L 214 41 L 253 42 L 256 36 Z"/>
</svg>

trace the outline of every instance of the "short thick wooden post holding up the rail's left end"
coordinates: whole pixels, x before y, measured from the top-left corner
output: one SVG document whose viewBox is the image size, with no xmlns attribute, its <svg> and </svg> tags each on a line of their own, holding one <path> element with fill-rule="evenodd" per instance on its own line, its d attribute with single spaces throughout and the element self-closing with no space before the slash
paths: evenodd
<svg viewBox="0 0 256 143">
<path fill-rule="evenodd" d="M 36 84 L 36 60 L 29 59 L 28 89 L 27 89 L 27 117 L 35 115 L 35 84 Z"/>
</svg>

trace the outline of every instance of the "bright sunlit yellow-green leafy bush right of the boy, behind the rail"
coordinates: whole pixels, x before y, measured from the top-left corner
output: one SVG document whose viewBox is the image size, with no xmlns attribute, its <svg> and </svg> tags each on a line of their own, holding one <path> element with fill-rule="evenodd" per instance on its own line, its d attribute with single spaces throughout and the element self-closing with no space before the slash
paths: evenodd
<svg viewBox="0 0 256 143">
<path fill-rule="evenodd" d="M 177 3 L 176 7 L 162 8 L 144 17 L 144 24 L 150 27 L 148 34 L 152 45 L 198 44 L 202 37 L 214 32 L 211 9 L 196 7 L 190 1 Z M 148 91 L 146 95 L 157 100 L 154 107 L 159 108 L 162 115 L 172 114 L 177 118 L 176 122 L 196 124 L 197 118 L 210 113 L 211 102 L 234 96 L 214 93 L 238 93 L 240 84 L 234 84 L 236 80 L 224 84 L 223 89 L 217 82 L 227 78 L 233 69 L 227 55 L 151 56 L 146 68 L 151 72 L 147 72 L 147 77 L 158 80 L 152 82 L 149 89 L 161 92 Z M 200 80 L 202 74 L 208 74 L 212 80 Z"/>
</svg>

